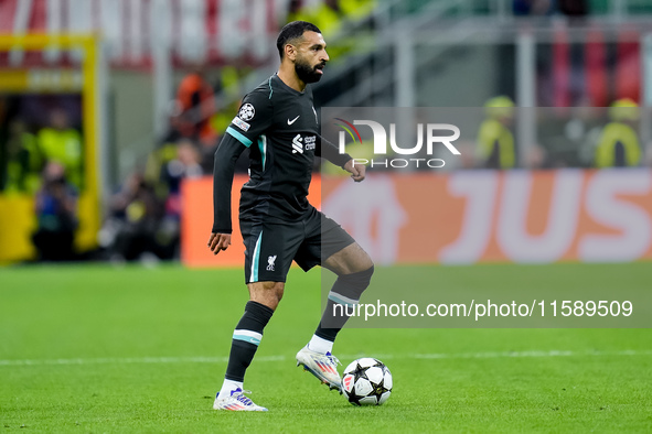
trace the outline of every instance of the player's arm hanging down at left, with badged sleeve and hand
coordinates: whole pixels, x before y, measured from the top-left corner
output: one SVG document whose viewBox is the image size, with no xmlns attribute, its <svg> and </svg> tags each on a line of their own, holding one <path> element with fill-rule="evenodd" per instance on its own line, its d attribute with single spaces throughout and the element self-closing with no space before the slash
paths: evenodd
<svg viewBox="0 0 652 434">
<path fill-rule="evenodd" d="M 209 249 L 214 254 L 231 245 L 231 189 L 238 156 L 271 124 L 271 100 L 267 93 L 254 91 L 243 99 L 215 152 L 213 165 L 213 229 Z"/>
</svg>

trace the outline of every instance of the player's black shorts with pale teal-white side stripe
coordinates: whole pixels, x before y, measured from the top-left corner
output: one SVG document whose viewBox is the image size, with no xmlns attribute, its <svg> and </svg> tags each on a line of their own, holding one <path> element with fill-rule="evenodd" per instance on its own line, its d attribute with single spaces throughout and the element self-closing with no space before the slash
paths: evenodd
<svg viewBox="0 0 652 434">
<path fill-rule="evenodd" d="M 321 265 L 353 238 L 314 207 L 299 221 L 241 219 L 245 242 L 245 282 L 285 282 L 292 260 L 304 271 Z"/>
</svg>

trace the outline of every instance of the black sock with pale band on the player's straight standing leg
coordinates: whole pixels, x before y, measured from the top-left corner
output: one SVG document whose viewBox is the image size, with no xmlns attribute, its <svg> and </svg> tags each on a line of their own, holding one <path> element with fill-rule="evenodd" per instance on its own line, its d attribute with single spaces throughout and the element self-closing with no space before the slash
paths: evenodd
<svg viewBox="0 0 652 434">
<path fill-rule="evenodd" d="M 245 314 L 233 332 L 231 355 L 224 378 L 244 381 L 245 371 L 254 359 L 263 338 L 263 329 L 271 318 L 274 311 L 257 302 L 247 302 Z"/>
</svg>

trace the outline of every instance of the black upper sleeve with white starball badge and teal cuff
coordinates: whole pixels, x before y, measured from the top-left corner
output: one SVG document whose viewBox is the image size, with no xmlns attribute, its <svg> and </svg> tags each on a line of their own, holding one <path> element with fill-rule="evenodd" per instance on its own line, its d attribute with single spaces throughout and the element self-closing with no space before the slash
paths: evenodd
<svg viewBox="0 0 652 434">
<path fill-rule="evenodd" d="M 226 129 L 226 134 L 249 148 L 271 126 L 272 118 L 270 93 L 253 91 L 243 99 L 237 115 Z"/>
</svg>

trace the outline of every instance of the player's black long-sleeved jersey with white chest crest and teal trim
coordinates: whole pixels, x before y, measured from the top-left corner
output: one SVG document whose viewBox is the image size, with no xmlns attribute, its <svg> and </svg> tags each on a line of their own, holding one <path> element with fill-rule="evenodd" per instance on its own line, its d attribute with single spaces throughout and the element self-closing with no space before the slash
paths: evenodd
<svg viewBox="0 0 652 434">
<path fill-rule="evenodd" d="M 351 160 L 321 142 L 310 88 L 297 91 L 272 75 L 245 96 L 215 153 L 213 232 L 232 230 L 233 165 L 245 148 L 250 150 L 249 181 L 241 191 L 239 216 L 245 219 L 301 219 L 310 207 L 314 156 L 323 153 L 340 166 Z"/>
</svg>

